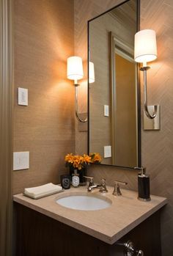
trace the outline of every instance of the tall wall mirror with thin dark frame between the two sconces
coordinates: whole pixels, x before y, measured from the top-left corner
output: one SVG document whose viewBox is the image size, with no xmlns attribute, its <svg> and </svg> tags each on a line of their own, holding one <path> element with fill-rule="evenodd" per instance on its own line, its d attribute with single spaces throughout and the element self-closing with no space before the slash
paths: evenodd
<svg viewBox="0 0 173 256">
<path fill-rule="evenodd" d="M 138 28 L 138 0 L 124 1 L 88 23 L 90 74 L 91 62 L 95 67 L 89 84 L 89 153 L 100 153 L 102 164 L 141 166 L 139 76 L 133 59 Z"/>
</svg>

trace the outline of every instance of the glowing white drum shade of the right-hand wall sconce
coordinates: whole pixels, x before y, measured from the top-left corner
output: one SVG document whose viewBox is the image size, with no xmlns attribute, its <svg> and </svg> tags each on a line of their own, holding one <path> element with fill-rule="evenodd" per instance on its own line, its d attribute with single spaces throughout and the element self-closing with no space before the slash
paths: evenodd
<svg viewBox="0 0 173 256">
<path fill-rule="evenodd" d="M 157 59 L 156 34 L 152 29 L 144 29 L 135 34 L 136 62 L 152 62 Z"/>
</svg>

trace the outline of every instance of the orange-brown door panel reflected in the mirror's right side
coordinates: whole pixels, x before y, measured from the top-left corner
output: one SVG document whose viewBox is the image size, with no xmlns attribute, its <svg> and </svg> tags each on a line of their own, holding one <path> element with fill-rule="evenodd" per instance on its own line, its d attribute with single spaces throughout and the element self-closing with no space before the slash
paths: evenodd
<svg viewBox="0 0 173 256">
<path fill-rule="evenodd" d="M 119 166 L 136 165 L 136 64 L 115 53 L 114 159 Z M 128 142 L 128 143 L 127 143 Z"/>
</svg>

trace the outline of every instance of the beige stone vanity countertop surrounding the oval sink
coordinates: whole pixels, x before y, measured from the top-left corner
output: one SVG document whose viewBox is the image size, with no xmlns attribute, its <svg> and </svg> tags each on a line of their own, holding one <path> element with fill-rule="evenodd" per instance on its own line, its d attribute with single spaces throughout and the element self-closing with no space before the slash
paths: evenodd
<svg viewBox="0 0 173 256">
<path fill-rule="evenodd" d="M 67 189 L 59 194 L 43 197 L 39 200 L 32 200 L 23 194 L 13 196 L 15 202 L 25 205 L 28 208 L 43 213 L 70 227 L 81 230 L 92 235 L 107 244 L 114 244 L 119 238 L 133 230 L 152 213 L 155 213 L 163 205 L 166 205 L 166 198 L 151 196 L 150 202 L 143 202 L 137 199 L 136 191 L 122 189 L 122 196 L 112 195 L 113 187 L 107 186 L 108 193 L 101 194 L 97 189 L 87 192 L 87 187 Z M 89 194 L 106 197 L 112 201 L 109 208 L 97 211 L 79 211 L 65 208 L 56 203 L 60 197 L 70 194 Z"/>
</svg>

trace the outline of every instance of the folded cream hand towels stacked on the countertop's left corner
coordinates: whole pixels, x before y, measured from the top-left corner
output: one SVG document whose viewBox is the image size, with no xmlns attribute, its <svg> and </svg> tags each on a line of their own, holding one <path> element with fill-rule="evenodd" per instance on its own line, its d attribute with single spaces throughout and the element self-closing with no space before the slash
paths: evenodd
<svg viewBox="0 0 173 256">
<path fill-rule="evenodd" d="M 46 195 L 55 194 L 59 191 L 62 191 L 62 186 L 54 185 L 53 183 L 48 183 L 43 186 L 27 188 L 24 190 L 24 194 L 28 197 L 37 199 L 40 197 L 45 197 Z"/>
</svg>

